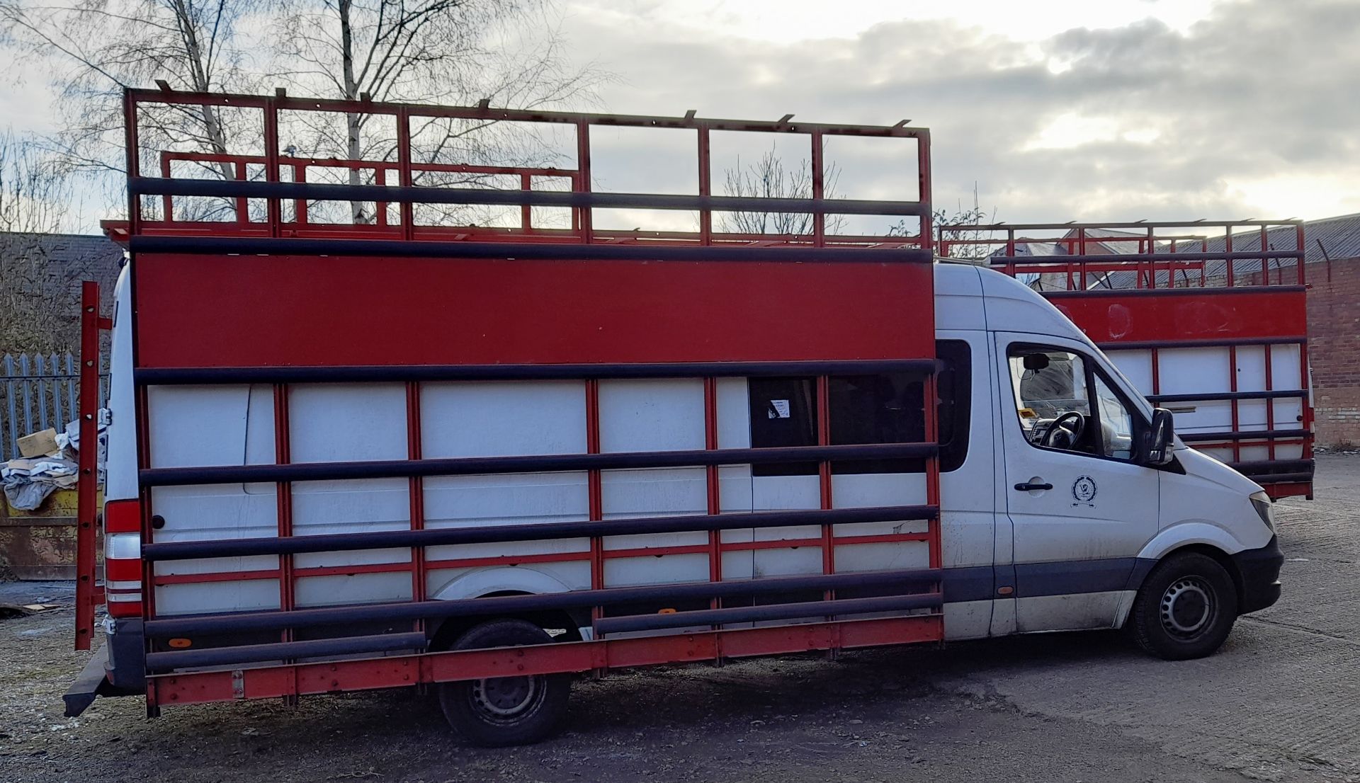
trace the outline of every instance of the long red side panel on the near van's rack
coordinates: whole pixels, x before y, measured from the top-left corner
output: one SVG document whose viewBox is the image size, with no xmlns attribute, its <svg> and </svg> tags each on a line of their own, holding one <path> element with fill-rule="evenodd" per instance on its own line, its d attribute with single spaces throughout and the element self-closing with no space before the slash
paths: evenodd
<svg viewBox="0 0 1360 783">
<path fill-rule="evenodd" d="M 925 264 L 139 254 L 141 367 L 934 355 Z"/>
</svg>

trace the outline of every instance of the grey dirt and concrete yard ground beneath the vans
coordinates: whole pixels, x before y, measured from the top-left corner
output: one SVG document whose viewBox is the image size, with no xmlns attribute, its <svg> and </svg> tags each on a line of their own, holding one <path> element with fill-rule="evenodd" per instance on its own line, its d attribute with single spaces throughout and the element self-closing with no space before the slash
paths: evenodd
<svg viewBox="0 0 1360 783">
<path fill-rule="evenodd" d="M 0 620 L 0 782 L 1360 782 L 1360 457 L 1321 457 L 1316 493 L 1278 506 L 1284 598 L 1204 661 L 1064 633 L 646 670 L 579 682 L 562 737 L 503 750 L 413 692 L 65 719 L 71 586 L 0 585 L 67 606 Z"/>
</svg>

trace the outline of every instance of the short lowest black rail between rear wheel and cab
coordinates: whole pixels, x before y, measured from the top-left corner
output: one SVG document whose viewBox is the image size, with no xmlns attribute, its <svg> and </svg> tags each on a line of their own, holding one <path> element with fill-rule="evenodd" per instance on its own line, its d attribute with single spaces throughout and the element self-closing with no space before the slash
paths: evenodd
<svg viewBox="0 0 1360 783">
<path fill-rule="evenodd" d="M 688 625 L 722 625 L 726 623 L 759 623 L 762 620 L 793 620 L 796 617 L 845 617 L 872 612 L 904 612 L 944 606 L 938 593 L 918 595 L 880 595 L 877 598 L 847 598 L 842 601 L 806 601 L 801 604 L 767 604 L 764 606 L 733 606 L 729 609 L 702 609 L 669 614 L 628 614 L 604 617 L 594 621 L 597 633 L 626 633 L 630 631 L 660 631 Z"/>
</svg>

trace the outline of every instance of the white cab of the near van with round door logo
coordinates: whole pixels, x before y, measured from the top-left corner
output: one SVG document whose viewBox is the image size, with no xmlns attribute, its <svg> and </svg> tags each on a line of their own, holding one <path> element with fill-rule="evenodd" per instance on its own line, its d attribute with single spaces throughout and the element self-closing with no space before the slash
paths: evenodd
<svg viewBox="0 0 1360 783">
<path fill-rule="evenodd" d="M 1190 658 L 1274 604 L 1270 499 L 1179 439 L 1146 449 L 1170 413 L 1062 313 L 967 264 L 936 266 L 936 313 L 940 356 L 972 377 L 971 411 L 941 408 L 968 440 L 941 473 L 948 638 L 1127 627 Z"/>
</svg>

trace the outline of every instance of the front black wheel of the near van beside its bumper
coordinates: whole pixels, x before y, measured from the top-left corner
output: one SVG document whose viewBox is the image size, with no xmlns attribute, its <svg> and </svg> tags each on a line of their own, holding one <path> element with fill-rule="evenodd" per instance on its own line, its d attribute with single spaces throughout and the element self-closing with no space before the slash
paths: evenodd
<svg viewBox="0 0 1360 783">
<path fill-rule="evenodd" d="M 1228 571 L 1198 552 L 1172 555 L 1144 580 L 1126 628 L 1145 651 L 1167 661 L 1212 655 L 1238 619 Z"/>
</svg>

